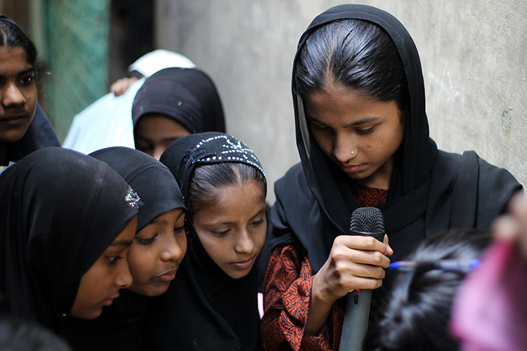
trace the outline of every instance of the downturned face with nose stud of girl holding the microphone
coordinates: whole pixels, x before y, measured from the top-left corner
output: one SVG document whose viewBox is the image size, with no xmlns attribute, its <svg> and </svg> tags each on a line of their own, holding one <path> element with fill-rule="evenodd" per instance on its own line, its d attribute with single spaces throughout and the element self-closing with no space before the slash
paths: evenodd
<svg viewBox="0 0 527 351">
<path fill-rule="evenodd" d="M 403 142 L 396 101 L 373 100 L 340 84 L 309 93 L 306 118 L 320 149 L 361 185 L 388 189 L 395 152 Z"/>
</svg>

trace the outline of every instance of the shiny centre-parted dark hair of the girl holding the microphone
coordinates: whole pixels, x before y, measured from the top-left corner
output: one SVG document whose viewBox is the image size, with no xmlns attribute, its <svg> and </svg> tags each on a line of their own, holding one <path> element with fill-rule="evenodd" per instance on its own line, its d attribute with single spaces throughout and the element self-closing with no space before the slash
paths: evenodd
<svg viewBox="0 0 527 351">
<path fill-rule="evenodd" d="M 395 44 L 384 29 L 363 20 L 338 20 L 316 29 L 301 48 L 294 81 L 303 97 L 331 82 L 380 101 L 396 100 L 401 111 L 408 95 Z"/>
</svg>

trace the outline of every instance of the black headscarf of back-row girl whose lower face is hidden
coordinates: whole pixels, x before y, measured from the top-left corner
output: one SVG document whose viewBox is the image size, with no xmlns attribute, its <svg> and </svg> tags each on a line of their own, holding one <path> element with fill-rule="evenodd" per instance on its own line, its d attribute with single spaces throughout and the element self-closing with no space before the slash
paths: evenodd
<svg viewBox="0 0 527 351">
<path fill-rule="evenodd" d="M 190 133 L 225 132 L 216 86 L 207 74 L 195 68 L 171 67 L 148 77 L 134 98 L 134 126 L 145 114 L 164 114 Z"/>
</svg>

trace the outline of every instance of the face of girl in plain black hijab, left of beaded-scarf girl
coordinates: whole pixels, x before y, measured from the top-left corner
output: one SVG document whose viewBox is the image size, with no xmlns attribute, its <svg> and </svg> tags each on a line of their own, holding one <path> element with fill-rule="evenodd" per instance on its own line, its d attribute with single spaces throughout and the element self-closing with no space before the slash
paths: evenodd
<svg viewBox="0 0 527 351">
<path fill-rule="evenodd" d="M 158 296 L 169 289 L 187 251 L 185 212 L 176 208 L 152 220 L 134 238 L 128 253 L 134 283 L 130 291 Z"/>
</svg>

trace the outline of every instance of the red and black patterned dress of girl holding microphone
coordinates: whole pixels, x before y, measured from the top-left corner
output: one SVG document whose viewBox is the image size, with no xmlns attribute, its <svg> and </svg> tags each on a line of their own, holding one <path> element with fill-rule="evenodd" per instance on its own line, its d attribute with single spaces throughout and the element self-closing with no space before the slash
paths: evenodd
<svg viewBox="0 0 527 351">
<path fill-rule="evenodd" d="M 388 190 L 350 185 L 360 206 L 386 201 Z M 297 241 L 273 250 L 263 282 L 262 350 L 338 350 L 346 298 L 337 300 L 318 335 L 304 335 L 315 272 Z"/>
</svg>

